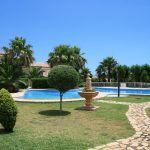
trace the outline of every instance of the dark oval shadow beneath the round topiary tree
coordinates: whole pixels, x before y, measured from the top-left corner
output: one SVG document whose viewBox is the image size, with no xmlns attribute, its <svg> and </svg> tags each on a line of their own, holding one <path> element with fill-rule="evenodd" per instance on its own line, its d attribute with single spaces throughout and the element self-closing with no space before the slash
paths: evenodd
<svg viewBox="0 0 150 150">
<path fill-rule="evenodd" d="M 44 110 L 39 112 L 40 115 L 45 115 L 45 116 L 67 116 L 70 115 L 71 112 L 69 111 L 60 111 L 60 110 Z"/>
</svg>

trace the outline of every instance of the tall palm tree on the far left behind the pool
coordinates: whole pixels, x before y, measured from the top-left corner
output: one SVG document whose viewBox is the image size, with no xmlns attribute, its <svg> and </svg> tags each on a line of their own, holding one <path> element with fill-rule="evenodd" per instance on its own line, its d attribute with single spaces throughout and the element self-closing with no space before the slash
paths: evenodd
<svg viewBox="0 0 150 150">
<path fill-rule="evenodd" d="M 9 47 L 3 47 L 3 55 L 0 57 L 0 85 L 14 92 L 18 89 L 19 78 L 22 76 L 23 68 L 29 67 L 33 62 L 32 46 L 26 44 L 22 37 L 11 40 Z M 24 84 L 24 83 L 23 83 Z"/>
</svg>

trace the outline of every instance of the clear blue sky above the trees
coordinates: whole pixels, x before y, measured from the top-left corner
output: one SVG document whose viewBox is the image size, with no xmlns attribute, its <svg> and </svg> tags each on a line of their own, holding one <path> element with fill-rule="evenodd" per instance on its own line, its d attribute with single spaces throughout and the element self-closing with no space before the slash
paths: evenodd
<svg viewBox="0 0 150 150">
<path fill-rule="evenodd" d="M 68 44 L 81 48 L 93 73 L 107 56 L 129 66 L 150 63 L 150 0 L 1 0 L 0 6 L 0 47 L 22 36 L 36 61 Z"/>
</svg>

